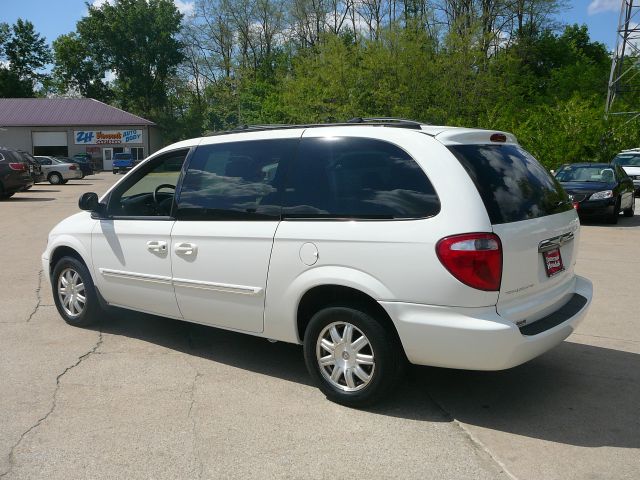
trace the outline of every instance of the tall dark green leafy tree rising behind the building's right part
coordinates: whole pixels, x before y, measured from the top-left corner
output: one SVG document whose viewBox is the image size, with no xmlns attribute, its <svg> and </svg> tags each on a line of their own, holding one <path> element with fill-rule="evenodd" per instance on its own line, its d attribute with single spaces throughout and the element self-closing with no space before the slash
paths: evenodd
<svg viewBox="0 0 640 480">
<path fill-rule="evenodd" d="M 55 43 L 56 77 L 85 95 L 105 95 L 114 72 L 113 100 L 148 118 L 170 117 L 168 94 L 184 56 L 182 14 L 172 0 L 115 0 L 89 6 L 77 33 Z M 76 57 L 78 55 L 78 57 Z"/>
</svg>

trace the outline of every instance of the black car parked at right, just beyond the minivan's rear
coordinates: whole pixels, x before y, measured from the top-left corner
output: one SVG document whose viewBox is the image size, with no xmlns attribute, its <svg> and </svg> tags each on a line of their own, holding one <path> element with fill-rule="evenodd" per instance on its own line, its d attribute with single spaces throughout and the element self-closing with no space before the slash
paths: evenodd
<svg viewBox="0 0 640 480">
<path fill-rule="evenodd" d="M 563 165 L 555 174 L 584 217 L 604 217 L 618 223 L 620 211 L 625 217 L 635 212 L 633 182 L 622 168 L 610 163 L 574 163 Z"/>
</svg>

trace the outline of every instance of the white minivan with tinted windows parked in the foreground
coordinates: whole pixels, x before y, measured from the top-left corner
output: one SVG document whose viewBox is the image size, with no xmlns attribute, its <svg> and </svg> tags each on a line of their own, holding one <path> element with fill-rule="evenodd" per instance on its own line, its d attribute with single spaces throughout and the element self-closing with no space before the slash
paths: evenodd
<svg viewBox="0 0 640 480">
<path fill-rule="evenodd" d="M 526 362 L 592 298 L 567 194 L 503 132 L 245 127 L 166 147 L 80 208 L 42 256 L 68 323 L 116 306 L 301 343 L 319 388 L 350 406 L 388 393 L 407 361 Z"/>
</svg>

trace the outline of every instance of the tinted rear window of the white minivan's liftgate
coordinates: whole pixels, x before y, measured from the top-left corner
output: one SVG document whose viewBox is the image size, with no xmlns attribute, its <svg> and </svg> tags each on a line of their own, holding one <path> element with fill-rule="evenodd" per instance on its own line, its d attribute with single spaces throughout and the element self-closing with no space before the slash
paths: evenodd
<svg viewBox="0 0 640 480">
<path fill-rule="evenodd" d="M 518 145 L 453 145 L 449 150 L 473 180 L 494 225 L 573 208 L 558 181 Z"/>
</svg>

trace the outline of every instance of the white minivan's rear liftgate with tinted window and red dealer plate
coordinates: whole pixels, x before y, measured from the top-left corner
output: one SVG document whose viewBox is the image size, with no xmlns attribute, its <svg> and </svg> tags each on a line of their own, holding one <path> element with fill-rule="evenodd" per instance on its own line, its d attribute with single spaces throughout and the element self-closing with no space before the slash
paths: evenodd
<svg viewBox="0 0 640 480">
<path fill-rule="evenodd" d="M 579 220 L 560 184 L 517 144 L 452 145 L 503 249 L 497 310 L 519 325 L 574 293 Z"/>
</svg>

